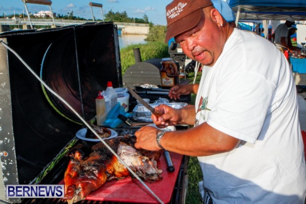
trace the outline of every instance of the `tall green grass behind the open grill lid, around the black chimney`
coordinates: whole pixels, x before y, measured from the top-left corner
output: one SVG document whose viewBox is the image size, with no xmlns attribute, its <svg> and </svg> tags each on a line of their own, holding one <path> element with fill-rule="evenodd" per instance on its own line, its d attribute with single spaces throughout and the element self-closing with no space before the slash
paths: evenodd
<svg viewBox="0 0 306 204">
<path fill-rule="evenodd" d="M 160 41 L 150 41 L 146 44 L 131 44 L 120 49 L 122 76 L 125 71 L 135 64 L 133 48 L 140 49 L 141 60 L 146 61 L 153 58 L 169 57 L 168 46 Z"/>
</svg>

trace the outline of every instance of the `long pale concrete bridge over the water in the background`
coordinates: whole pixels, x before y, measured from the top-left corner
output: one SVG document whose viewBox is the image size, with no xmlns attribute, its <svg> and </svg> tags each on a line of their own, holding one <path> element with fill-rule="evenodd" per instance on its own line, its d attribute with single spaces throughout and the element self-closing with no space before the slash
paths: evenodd
<svg viewBox="0 0 306 204">
<path fill-rule="evenodd" d="M 55 25 L 54 25 L 55 22 Z M 64 19 L 31 19 L 32 25 L 35 26 L 50 26 L 62 27 L 68 25 L 78 25 L 93 21 L 80 21 L 80 20 L 64 20 Z M 121 34 L 145 34 L 149 33 L 149 24 L 142 23 L 119 23 L 114 22 Z M 30 29 L 30 21 L 27 18 L 0 18 L 0 32 L 8 31 L 9 25 L 20 26 L 22 29 Z"/>
</svg>

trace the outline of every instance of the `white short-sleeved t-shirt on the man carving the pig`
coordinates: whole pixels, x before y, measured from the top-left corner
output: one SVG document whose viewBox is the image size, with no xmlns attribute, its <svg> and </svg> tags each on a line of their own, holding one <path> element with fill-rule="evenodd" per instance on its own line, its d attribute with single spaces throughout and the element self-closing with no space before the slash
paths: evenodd
<svg viewBox="0 0 306 204">
<path fill-rule="evenodd" d="M 297 93 L 283 54 L 234 29 L 214 66 L 204 69 L 195 125 L 207 122 L 241 140 L 230 152 L 198 157 L 214 204 L 305 204 Z"/>
</svg>

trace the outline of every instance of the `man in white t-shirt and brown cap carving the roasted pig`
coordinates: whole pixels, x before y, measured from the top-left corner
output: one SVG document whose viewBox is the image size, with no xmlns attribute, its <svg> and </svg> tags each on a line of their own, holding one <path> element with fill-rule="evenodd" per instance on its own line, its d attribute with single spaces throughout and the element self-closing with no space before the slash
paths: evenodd
<svg viewBox="0 0 306 204">
<path fill-rule="evenodd" d="M 205 65 L 195 106 L 155 109 L 136 148 L 198 157 L 205 204 L 305 204 L 306 164 L 297 93 L 288 61 L 268 40 L 231 28 L 210 0 L 166 7 L 166 41 Z M 205 79 L 204 79 L 205 78 Z"/>
</svg>

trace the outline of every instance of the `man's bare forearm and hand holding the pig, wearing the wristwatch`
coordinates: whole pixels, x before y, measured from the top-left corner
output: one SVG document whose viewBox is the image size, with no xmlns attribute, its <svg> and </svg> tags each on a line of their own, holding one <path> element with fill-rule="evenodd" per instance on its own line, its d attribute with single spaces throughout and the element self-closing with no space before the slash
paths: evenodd
<svg viewBox="0 0 306 204">
<path fill-rule="evenodd" d="M 159 150 L 156 134 L 160 131 L 151 126 L 142 127 L 135 135 L 136 148 Z M 200 157 L 229 152 L 236 148 L 240 140 L 225 134 L 206 122 L 186 131 L 166 132 L 160 145 L 171 152 Z"/>
</svg>

